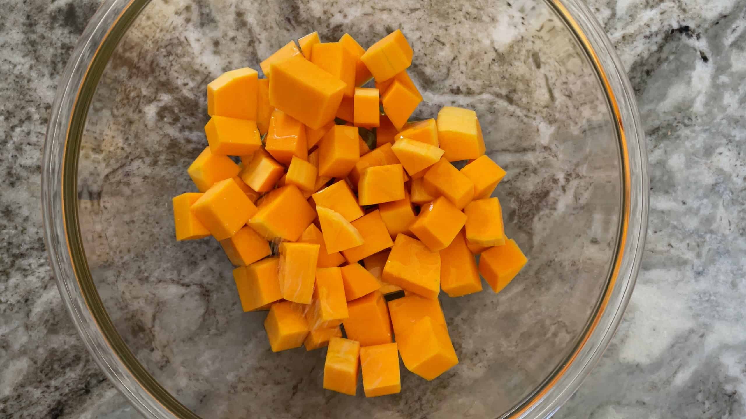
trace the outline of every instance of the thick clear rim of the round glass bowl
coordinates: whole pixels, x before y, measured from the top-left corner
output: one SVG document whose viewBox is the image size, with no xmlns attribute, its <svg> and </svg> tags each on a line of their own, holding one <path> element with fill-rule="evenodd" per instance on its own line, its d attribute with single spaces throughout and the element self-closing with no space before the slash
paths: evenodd
<svg viewBox="0 0 746 419">
<path fill-rule="evenodd" d="M 57 287 L 101 371 L 146 418 L 199 417 L 145 371 L 113 326 L 88 270 L 78 228 L 78 150 L 88 106 L 122 35 L 149 0 L 105 0 L 72 51 L 47 127 L 42 171 L 45 242 Z M 546 418 L 577 390 L 598 362 L 630 300 L 648 226 L 648 157 L 634 92 L 603 28 L 582 0 L 545 0 L 573 32 L 595 69 L 618 134 L 621 212 L 615 262 L 604 295 L 570 356 L 504 418 Z"/>
</svg>

